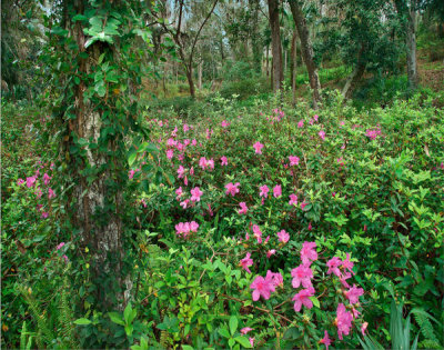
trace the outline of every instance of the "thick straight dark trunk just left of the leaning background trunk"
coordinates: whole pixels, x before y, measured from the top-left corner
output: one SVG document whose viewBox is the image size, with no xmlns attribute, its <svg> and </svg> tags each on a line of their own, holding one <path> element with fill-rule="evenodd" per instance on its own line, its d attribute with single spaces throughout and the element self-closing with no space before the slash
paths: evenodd
<svg viewBox="0 0 444 350">
<path fill-rule="evenodd" d="M 284 74 L 282 70 L 281 28 L 279 24 L 279 0 L 269 1 L 269 18 L 271 28 L 271 49 L 273 54 L 273 91 L 282 89 Z"/>
</svg>

